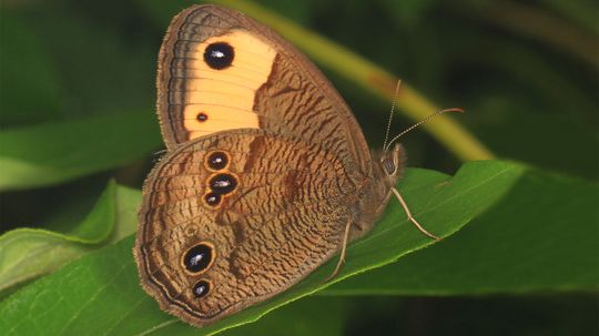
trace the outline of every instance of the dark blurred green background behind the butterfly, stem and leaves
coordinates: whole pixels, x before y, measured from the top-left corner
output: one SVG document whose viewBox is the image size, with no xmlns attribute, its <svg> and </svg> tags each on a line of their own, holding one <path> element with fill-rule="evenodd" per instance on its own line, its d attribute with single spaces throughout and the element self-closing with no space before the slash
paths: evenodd
<svg viewBox="0 0 599 336">
<path fill-rule="evenodd" d="M 256 2 L 398 75 L 436 104 L 463 108 L 467 113 L 457 120 L 497 156 L 597 180 L 596 1 Z M 151 153 L 162 149 L 153 108 L 158 50 L 171 17 L 190 3 L 2 2 L 2 132 L 135 112 L 146 114 L 144 128 L 152 130 L 153 138 L 150 150 L 118 169 L 58 185 L 0 193 L 0 233 L 21 226 L 68 230 L 61 225 L 77 221 L 64 218 L 89 212 L 111 176 L 141 187 L 158 157 Z M 354 110 L 370 145 L 379 147 L 389 103 L 326 68 L 323 71 Z M 399 116 L 394 130 L 409 124 Z M 113 128 L 136 134 L 131 122 Z M 93 134 L 100 142 L 112 135 Z M 71 141 L 77 145 L 79 139 Z M 412 132 L 403 143 L 409 166 L 454 173 L 460 165 L 424 131 Z M 0 145 L 6 152 L 12 144 Z M 341 310 L 345 335 L 373 330 L 375 335 L 599 333 L 596 294 L 334 301 L 339 302 L 332 306 Z"/>
</svg>

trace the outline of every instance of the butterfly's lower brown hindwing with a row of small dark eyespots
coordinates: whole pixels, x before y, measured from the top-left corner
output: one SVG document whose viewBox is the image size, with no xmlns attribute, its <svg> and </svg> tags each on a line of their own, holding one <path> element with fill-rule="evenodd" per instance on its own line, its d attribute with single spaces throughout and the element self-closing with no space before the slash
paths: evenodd
<svg viewBox="0 0 599 336">
<path fill-rule="evenodd" d="M 336 253 L 357 189 L 322 145 L 247 129 L 193 140 L 145 183 L 134 250 L 142 284 L 196 326 L 261 302 Z"/>
</svg>

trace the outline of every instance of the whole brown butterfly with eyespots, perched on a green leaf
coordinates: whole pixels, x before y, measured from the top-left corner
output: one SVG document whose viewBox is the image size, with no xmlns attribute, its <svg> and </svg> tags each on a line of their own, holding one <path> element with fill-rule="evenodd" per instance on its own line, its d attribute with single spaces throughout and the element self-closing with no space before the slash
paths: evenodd
<svg viewBox="0 0 599 336">
<path fill-rule="evenodd" d="M 187 323 L 263 302 L 341 251 L 334 276 L 393 193 L 418 225 L 394 187 L 402 146 L 373 155 L 325 77 L 240 12 L 173 19 L 158 113 L 167 153 L 143 187 L 134 254 L 145 291 Z"/>
</svg>

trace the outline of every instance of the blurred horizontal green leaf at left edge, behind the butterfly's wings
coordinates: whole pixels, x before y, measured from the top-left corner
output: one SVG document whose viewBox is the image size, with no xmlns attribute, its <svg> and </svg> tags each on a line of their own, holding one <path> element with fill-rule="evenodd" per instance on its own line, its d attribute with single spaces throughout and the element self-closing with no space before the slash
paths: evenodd
<svg viewBox="0 0 599 336">
<path fill-rule="evenodd" d="M 0 133 L 0 191 L 70 181 L 145 157 L 161 144 L 152 111 L 54 122 Z"/>
</svg>

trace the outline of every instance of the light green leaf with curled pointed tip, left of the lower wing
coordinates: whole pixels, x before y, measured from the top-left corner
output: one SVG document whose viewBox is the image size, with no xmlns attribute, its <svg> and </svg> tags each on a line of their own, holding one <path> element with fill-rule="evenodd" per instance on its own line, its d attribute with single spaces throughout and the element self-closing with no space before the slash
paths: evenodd
<svg viewBox="0 0 599 336">
<path fill-rule="evenodd" d="M 0 236 L 0 292 L 133 233 L 140 197 L 139 191 L 111 182 L 89 215 L 69 233 L 17 228 Z"/>
</svg>

